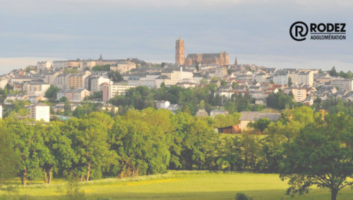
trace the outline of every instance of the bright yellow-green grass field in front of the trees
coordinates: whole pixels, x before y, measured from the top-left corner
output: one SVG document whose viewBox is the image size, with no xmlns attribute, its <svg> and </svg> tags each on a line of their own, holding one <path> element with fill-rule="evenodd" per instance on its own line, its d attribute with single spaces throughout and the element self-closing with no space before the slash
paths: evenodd
<svg viewBox="0 0 353 200">
<path fill-rule="evenodd" d="M 56 187 L 63 182 L 58 179 L 51 185 L 32 182 L 27 187 L 20 187 L 19 194 L 23 199 L 59 199 Z M 164 175 L 126 180 L 106 178 L 82 184 L 85 199 L 235 199 L 237 192 L 253 199 L 292 199 L 285 195 L 287 187 L 276 174 L 206 171 L 170 171 Z M 9 199 L 4 189 L 0 190 L 1 197 Z M 309 194 L 293 199 L 330 199 L 330 192 L 312 189 Z M 353 190 L 343 189 L 337 199 L 353 199 Z"/>
</svg>

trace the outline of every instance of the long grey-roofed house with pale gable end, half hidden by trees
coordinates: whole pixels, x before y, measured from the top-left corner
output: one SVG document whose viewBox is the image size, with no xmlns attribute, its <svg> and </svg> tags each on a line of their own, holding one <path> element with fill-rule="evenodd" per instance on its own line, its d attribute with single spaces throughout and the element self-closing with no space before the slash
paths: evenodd
<svg viewBox="0 0 353 200">
<path fill-rule="evenodd" d="M 261 118 L 268 118 L 270 121 L 277 121 L 280 119 L 281 113 L 260 113 L 260 112 L 241 112 L 240 129 L 241 131 L 248 130 L 248 124 L 259 120 Z"/>
</svg>

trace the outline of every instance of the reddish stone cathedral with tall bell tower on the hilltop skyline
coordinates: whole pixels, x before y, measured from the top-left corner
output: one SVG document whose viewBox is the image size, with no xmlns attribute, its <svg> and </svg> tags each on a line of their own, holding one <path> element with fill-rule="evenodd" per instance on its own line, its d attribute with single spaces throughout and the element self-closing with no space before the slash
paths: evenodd
<svg viewBox="0 0 353 200">
<path fill-rule="evenodd" d="M 222 51 L 216 54 L 188 54 L 185 58 L 184 40 L 179 37 L 175 45 L 175 63 L 177 65 L 217 64 L 229 65 L 228 53 Z"/>
</svg>

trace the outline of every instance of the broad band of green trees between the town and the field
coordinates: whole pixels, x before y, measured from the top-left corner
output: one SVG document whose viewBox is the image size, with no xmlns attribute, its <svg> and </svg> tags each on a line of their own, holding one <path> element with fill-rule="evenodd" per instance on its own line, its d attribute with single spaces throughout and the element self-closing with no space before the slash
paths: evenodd
<svg viewBox="0 0 353 200">
<path fill-rule="evenodd" d="M 351 116 L 323 116 L 301 106 L 283 110 L 277 122 L 251 123 L 253 129 L 241 135 L 216 133 L 217 126 L 239 123 L 239 114 L 228 116 L 145 108 L 47 124 L 8 117 L 0 123 L 0 180 L 18 176 L 26 185 L 37 177 L 49 184 L 69 174 L 88 181 L 167 170 L 237 170 L 280 173 L 289 179 L 288 194 L 310 185 L 337 194 L 352 185 Z"/>
</svg>

